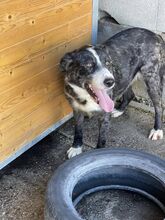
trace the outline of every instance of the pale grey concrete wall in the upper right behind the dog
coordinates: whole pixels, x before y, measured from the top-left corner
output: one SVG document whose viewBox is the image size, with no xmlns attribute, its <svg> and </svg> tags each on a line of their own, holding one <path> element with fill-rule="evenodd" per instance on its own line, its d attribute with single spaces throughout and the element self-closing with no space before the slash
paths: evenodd
<svg viewBox="0 0 165 220">
<path fill-rule="evenodd" d="M 164 0 L 100 0 L 99 4 L 120 24 L 165 32 Z"/>
</svg>

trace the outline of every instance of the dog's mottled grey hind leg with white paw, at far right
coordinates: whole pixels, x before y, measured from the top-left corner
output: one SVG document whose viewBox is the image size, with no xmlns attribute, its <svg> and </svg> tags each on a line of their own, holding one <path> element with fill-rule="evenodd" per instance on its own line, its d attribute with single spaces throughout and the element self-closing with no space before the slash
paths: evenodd
<svg viewBox="0 0 165 220">
<path fill-rule="evenodd" d="M 149 70 L 149 71 L 148 71 Z M 162 120 L 163 120 L 163 106 L 162 106 L 162 80 L 159 74 L 158 65 L 144 66 L 142 68 L 143 78 L 147 86 L 148 94 L 152 100 L 155 109 L 154 128 L 150 131 L 149 139 L 159 140 L 163 139 Z"/>
</svg>

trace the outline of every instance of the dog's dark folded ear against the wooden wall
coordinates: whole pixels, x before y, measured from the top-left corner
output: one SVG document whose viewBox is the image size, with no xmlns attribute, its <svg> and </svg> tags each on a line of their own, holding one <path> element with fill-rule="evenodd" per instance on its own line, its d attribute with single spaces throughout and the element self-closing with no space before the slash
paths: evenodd
<svg viewBox="0 0 165 220">
<path fill-rule="evenodd" d="M 74 62 L 75 51 L 66 53 L 60 61 L 60 69 L 62 72 L 67 72 L 71 69 Z"/>
</svg>

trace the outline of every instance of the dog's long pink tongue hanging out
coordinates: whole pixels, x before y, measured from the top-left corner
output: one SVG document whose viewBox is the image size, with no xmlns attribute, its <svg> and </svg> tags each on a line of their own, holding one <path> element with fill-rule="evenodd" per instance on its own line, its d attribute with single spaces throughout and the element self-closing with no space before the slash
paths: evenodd
<svg viewBox="0 0 165 220">
<path fill-rule="evenodd" d="M 112 112 L 114 109 L 114 102 L 109 97 L 109 95 L 106 93 L 105 90 L 92 88 L 99 98 L 99 105 L 105 112 Z"/>
</svg>

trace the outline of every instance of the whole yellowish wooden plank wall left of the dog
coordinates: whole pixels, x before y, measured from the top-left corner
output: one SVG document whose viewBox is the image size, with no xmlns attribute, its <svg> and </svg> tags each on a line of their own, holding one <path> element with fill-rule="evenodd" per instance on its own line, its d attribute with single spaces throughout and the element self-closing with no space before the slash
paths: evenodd
<svg viewBox="0 0 165 220">
<path fill-rule="evenodd" d="M 91 21 L 92 0 L 0 1 L 0 162 L 71 112 L 58 63 Z"/>
</svg>

